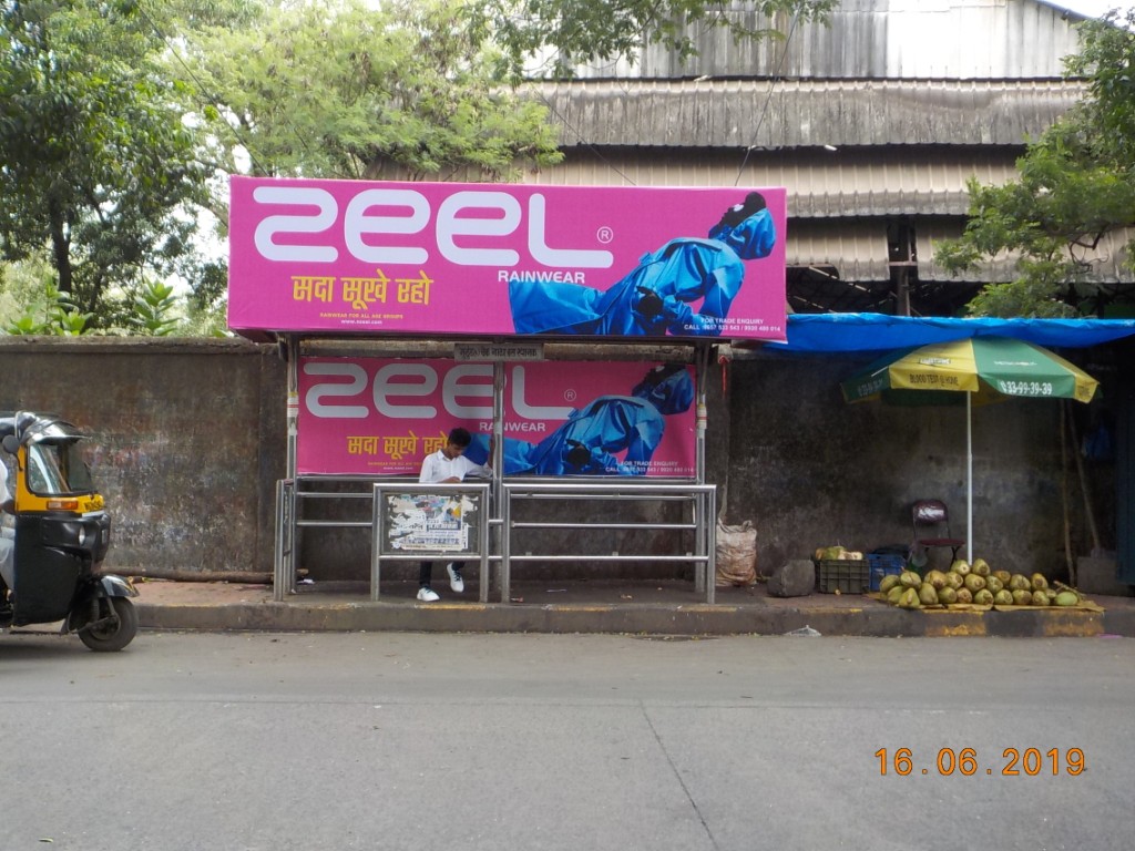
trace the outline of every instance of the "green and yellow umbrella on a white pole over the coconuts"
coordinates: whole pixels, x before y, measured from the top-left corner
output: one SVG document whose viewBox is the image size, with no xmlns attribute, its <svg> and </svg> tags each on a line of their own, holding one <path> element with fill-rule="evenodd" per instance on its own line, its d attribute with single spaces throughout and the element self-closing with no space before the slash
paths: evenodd
<svg viewBox="0 0 1135 851">
<path fill-rule="evenodd" d="M 974 557 L 972 406 L 1011 396 L 1091 402 L 1099 381 L 1063 357 L 1009 337 L 970 337 L 893 352 L 842 381 L 848 402 L 966 404 L 966 557 Z"/>
</svg>

